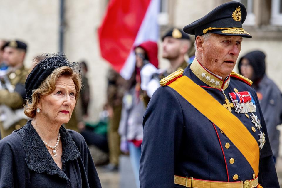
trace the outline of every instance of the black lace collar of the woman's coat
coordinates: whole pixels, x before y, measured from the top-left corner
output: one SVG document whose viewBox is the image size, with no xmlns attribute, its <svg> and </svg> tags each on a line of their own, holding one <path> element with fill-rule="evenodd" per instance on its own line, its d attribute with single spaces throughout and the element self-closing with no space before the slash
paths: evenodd
<svg viewBox="0 0 282 188">
<path fill-rule="evenodd" d="M 77 159 L 80 156 L 80 152 L 70 134 L 63 126 L 60 127 L 59 132 L 63 145 L 63 153 L 61 156 L 62 170 L 54 162 L 40 136 L 31 125 L 31 120 L 29 120 L 18 133 L 22 136 L 28 168 L 37 173 L 46 172 L 50 175 L 58 174 L 59 177 L 66 179 L 69 184 L 70 180 L 64 173 L 65 162 Z"/>
</svg>

